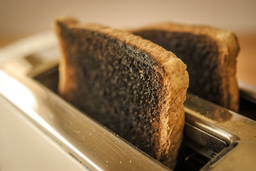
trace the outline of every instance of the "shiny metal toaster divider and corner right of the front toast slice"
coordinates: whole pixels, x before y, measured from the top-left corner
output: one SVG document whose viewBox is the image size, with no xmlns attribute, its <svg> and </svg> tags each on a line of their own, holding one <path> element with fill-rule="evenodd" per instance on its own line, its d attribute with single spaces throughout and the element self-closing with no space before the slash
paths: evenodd
<svg viewBox="0 0 256 171">
<path fill-rule="evenodd" d="M 202 170 L 255 170 L 255 121 L 193 95 L 184 105 L 188 123 L 227 143 Z"/>
</svg>

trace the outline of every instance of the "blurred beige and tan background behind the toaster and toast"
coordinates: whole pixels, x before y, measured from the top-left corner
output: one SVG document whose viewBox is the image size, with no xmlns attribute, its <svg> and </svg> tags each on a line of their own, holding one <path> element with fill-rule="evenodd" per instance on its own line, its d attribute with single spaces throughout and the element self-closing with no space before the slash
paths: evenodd
<svg viewBox="0 0 256 171">
<path fill-rule="evenodd" d="M 232 31 L 241 46 L 237 77 L 256 86 L 255 0 L 0 0 L 0 48 L 27 36 L 51 31 L 52 20 L 60 15 L 117 28 L 173 21 Z"/>
</svg>

